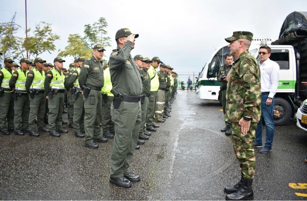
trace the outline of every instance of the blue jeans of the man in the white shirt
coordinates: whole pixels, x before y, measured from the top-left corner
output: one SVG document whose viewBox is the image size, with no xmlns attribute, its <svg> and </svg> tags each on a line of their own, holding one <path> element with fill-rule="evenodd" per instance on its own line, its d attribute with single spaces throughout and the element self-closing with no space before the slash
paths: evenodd
<svg viewBox="0 0 307 201">
<path fill-rule="evenodd" d="M 255 144 L 262 144 L 262 117 L 264 122 L 266 123 L 266 144 L 272 148 L 273 138 L 274 138 L 274 119 L 273 119 L 273 107 L 274 107 L 274 97 L 272 100 L 272 104 L 266 105 L 266 99 L 268 98 L 269 93 L 261 95 L 261 118 L 259 123 L 257 124 L 256 129 L 256 138 Z"/>
</svg>

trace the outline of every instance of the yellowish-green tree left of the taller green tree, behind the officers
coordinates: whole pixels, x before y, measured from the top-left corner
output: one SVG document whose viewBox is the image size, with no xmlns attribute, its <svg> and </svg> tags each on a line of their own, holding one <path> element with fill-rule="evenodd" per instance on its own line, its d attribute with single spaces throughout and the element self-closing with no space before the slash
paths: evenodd
<svg viewBox="0 0 307 201">
<path fill-rule="evenodd" d="M 72 56 L 74 59 L 79 56 L 84 56 L 87 59 L 91 57 L 92 49 L 87 47 L 84 38 L 82 38 L 79 34 L 69 34 L 67 43 L 68 45 L 63 51 L 59 50 L 60 56 Z"/>
</svg>

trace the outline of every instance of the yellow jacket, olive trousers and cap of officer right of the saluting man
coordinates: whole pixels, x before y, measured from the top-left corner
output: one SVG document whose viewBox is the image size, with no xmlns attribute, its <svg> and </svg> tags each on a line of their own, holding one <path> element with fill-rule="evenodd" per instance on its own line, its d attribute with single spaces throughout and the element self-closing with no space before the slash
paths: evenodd
<svg viewBox="0 0 307 201">
<path fill-rule="evenodd" d="M 156 60 L 157 58 L 158 57 L 156 57 Z M 151 61 L 153 61 L 153 59 Z M 161 62 L 159 58 L 157 61 Z M 150 66 L 147 72 L 150 77 L 150 97 L 149 97 L 149 102 L 148 102 L 146 129 L 150 129 L 153 127 L 154 122 L 155 122 L 154 116 L 155 116 L 156 104 L 157 104 L 157 91 L 159 89 L 159 78 L 157 75 L 157 70 L 153 68 L 153 66 Z"/>
</svg>

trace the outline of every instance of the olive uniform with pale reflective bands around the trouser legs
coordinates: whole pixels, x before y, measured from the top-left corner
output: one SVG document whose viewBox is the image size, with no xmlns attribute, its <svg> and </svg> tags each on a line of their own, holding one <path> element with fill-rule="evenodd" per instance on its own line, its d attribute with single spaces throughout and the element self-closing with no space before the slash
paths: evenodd
<svg viewBox="0 0 307 201">
<path fill-rule="evenodd" d="M 162 64 L 161 64 L 162 65 Z M 163 119 L 164 104 L 165 104 L 165 88 L 167 82 L 167 76 L 161 70 L 157 72 L 159 78 L 159 89 L 157 93 L 157 104 L 155 112 L 155 121 L 161 121 Z"/>
</svg>

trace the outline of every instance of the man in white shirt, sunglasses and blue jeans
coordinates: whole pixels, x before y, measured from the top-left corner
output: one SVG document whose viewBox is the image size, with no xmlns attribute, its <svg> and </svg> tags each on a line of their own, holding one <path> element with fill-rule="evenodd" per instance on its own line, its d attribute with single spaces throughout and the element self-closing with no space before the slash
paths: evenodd
<svg viewBox="0 0 307 201">
<path fill-rule="evenodd" d="M 279 65 L 270 60 L 271 48 L 263 45 L 259 48 L 260 72 L 261 72 L 261 117 L 266 123 L 266 143 L 260 150 L 267 153 L 272 150 L 274 138 L 273 107 L 274 96 L 279 80 Z M 262 118 L 261 118 L 262 119 Z M 256 129 L 254 147 L 262 147 L 262 120 L 259 121 Z"/>
</svg>

